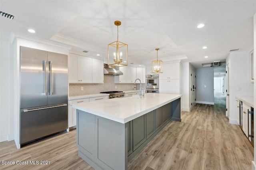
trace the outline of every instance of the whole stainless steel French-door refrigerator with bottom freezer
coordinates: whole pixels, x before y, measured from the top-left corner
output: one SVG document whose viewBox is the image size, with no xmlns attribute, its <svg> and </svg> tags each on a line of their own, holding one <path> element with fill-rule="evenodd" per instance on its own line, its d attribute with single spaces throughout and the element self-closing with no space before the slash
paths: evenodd
<svg viewBox="0 0 256 170">
<path fill-rule="evenodd" d="M 20 144 L 68 129 L 68 56 L 20 47 Z"/>
</svg>

